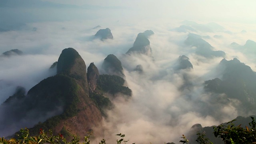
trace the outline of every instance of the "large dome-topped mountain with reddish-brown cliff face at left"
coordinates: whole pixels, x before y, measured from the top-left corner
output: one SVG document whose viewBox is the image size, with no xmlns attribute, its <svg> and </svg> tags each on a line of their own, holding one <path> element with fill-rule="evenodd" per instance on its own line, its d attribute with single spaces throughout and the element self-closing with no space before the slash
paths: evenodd
<svg viewBox="0 0 256 144">
<path fill-rule="evenodd" d="M 43 128 L 52 129 L 54 134 L 65 131 L 68 138 L 73 134 L 82 138 L 100 124 L 102 114 L 89 98 L 86 65 L 76 50 L 66 48 L 62 51 L 57 73 L 31 88 L 25 98 L 11 100 L 0 106 L 0 110 L 6 112 L 0 120 L 6 125 L 0 126 L 0 131 L 15 125 L 15 131 L 32 127 L 32 135 Z"/>
</svg>

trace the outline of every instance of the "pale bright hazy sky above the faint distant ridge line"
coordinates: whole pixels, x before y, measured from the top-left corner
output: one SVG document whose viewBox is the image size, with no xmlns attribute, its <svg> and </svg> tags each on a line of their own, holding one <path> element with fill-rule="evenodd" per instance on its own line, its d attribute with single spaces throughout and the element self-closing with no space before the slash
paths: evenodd
<svg viewBox="0 0 256 144">
<path fill-rule="evenodd" d="M 133 10 L 136 16 L 256 23 L 255 0 L 44 0 Z M 132 13 L 131 13 L 132 14 Z"/>
</svg>

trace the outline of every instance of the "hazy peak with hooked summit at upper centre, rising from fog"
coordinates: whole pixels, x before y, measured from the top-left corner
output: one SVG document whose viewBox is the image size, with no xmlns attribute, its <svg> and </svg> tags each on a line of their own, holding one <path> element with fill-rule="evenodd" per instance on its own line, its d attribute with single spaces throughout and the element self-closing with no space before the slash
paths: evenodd
<svg viewBox="0 0 256 144">
<path fill-rule="evenodd" d="M 152 56 L 152 49 L 150 47 L 150 41 L 148 40 L 148 37 L 154 34 L 152 30 L 146 30 L 143 33 L 139 33 L 133 47 L 126 52 L 126 54 L 145 54 L 147 56 Z"/>
</svg>

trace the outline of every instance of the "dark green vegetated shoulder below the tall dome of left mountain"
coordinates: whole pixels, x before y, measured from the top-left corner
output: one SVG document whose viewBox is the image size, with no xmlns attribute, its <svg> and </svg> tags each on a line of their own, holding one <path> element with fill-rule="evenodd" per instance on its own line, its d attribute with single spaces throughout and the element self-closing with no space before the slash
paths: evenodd
<svg viewBox="0 0 256 144">
<path fill-rule="evenodd" d="M 80 101 L 77 94 L 78 89 L 79 87 L 73 78 L 60 74 L 46 78 L 34 86 L 28 94 L 33 96 L 36 93 L 39 96 L 40 100 L 36 100 L 36 102 L 40 102 L 40 104 L 38 103 L 40 110 L 46 111 L 47 109 L 53 109 L 52 106 L 62 106 L 63 113 L 30 128 L 31 134 L 37 134 L 40 128 L 45 130 L 54 128 L 59 124 L 60 120 L 75 116 L 78 113 L 77 105 Z M 36 108 L 36 106 L 32 106 L 31 108 Z"/>
</svg>

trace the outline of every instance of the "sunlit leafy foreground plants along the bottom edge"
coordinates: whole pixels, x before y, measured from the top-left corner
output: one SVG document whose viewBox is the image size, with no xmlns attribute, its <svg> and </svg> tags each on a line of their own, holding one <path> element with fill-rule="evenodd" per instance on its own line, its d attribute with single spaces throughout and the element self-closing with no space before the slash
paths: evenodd
<svg viewBox="0 0 256 144">
<path fill-rule="evenodd" d="M 249 123 L 250 128 L 246 126 L 246 128 L 242 128 L 241 124 L 235 126 L 232 120 L 228 122 L 229 125 L 220 124 L 219 126 L 214 127 L 214 135 L 216 137 L 222 138 L 225 144 L 256 144 L 256 122 L 254 117 L 252 118 L 252 122 Z M 5 139 L 0 138 L 0 144 L 79 144 L 79 139 L 76 136 L 73 136 L 71 142 L 67 142 L 66 138 L 64 138 L 64 133 L 66 132 L 64 127 L 62 128 L 62 133 L 58 136 L 53 136 L 52 130 L 49 130 L 49 134 L 45 133 L 42 128 L 38 129 L 38 136 L 30 136 L 29 130 L 27 128 L 21 129 L 20 133 L 17 134 L 16 138 Z M 84 141 L 82 144 L 90 144 L 90 135 L 92 132 L 88 133 L 88 136 L 84 136 Z M 197 132 L 197 140 L 198 144 L 213 144 L 209 141 L 208 138 L 205 138 L 204 132 Z M 116 134 L 116 136 L 120 136 L 120 140 L 116 140 L 117 144 L 128 143 L 128 140 L 124 140 L 125 134 Z M 182 135 L 182 140 L 180 140 L 183 144 L 189 144 L 189 140 L 186 136 Z M 106 144 L 106 140 L 103 138 L 99 144 Z M 132 143 L 135 144 L 135 143 Z M 151 144 L 151 143 L 150 143 Z M 172 144 L 172 143 L 167 143 Z"/>
</svg>

